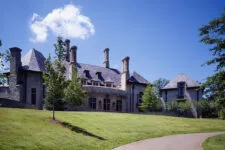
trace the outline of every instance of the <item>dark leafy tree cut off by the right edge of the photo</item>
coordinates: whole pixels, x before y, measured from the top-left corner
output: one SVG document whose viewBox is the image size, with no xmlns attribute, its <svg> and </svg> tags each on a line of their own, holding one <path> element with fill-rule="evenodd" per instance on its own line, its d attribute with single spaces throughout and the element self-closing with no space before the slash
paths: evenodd
<svg viewBox="0 0 225 150">
<path fill-rule="evenodd" d="M 211 46 L 210 51 L 213 55 L 213 59 L 205 64 L 216 65 L 216 73 L 207 79 L 203 88 L 206 89 L 210 99 L 219 104 L 219 114 L 223 114 L 225 112 L 225 12 L 220 18 L 210 21 L 199 31 L 202 37 L 201 42 Z"/>
</svg>

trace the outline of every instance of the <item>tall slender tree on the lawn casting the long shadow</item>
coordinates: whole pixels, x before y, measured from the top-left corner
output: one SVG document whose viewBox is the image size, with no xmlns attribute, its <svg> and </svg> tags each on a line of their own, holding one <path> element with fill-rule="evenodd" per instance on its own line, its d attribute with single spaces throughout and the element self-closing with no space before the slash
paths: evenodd
<svg viewBox="0 0 225 150">
<path fill-rule="evenodd" d="M 51 57 L 45 62 L 46 72 L 43 73 L 44 84 L 47 87 L 47 96 L 45 97 L 46 109 L 53 110 L 52 119 L 55 120 L 55 110 L 64 109 L 64 88 L 66 79 L 64 74 L 66 68 L 63 64 L 65 59 L 65 43 L 61 37 L 57 38 L 57 43 L 53 45 L 55 48 L 55 60 L 52 62 Z"/>
</svg>

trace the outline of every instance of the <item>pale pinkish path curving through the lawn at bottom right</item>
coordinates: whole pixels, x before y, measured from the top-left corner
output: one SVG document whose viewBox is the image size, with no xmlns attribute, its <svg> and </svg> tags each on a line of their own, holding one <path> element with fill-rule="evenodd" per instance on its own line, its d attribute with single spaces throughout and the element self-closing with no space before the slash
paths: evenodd
<svg viewBox="0 0 225 150">
<path fill-rule="evenodd" d="M 202 150 L 202 143 L 208 137 L 218 134 L 225 132 L 170 135 L 137 141 L 113 150 Z"/>
</svg>

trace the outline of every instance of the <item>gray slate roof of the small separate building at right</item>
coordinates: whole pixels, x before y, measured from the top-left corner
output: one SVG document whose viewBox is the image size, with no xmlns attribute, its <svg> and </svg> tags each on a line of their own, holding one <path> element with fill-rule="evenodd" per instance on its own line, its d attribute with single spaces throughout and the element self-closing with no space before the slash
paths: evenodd
<svg viewBox="0 0 225 150">
<path fill-rule="evenodd" d="M 200 84 L 197 83 L 196 81 L 192 80 L 190 77 L 187 75 L 181 73 L 178 74 L 173 80 L 171 80 L 163 89 L 174 89 L 177 88 L 177 83 L 178 82 L 186 82 L 187 88 L 190 87 L 200 87 Z"/>
</svg>

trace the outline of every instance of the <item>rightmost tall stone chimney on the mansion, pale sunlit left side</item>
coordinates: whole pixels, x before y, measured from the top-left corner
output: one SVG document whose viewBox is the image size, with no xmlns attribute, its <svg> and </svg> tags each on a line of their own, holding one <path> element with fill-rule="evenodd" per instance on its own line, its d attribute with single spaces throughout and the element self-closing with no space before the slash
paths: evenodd
<svg viewBox="0 0 225 150">
<path fill-rule="evenodd" d="M 121 73 L 121 89 L 122 90 L 127 90 L 127 80 L 130 77 L 129 74 L 129 60 L 130 57 L 125 57 L 122 62 L 123 62 L 123 72 Z"/>
</svg>

